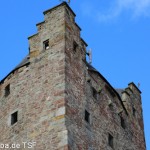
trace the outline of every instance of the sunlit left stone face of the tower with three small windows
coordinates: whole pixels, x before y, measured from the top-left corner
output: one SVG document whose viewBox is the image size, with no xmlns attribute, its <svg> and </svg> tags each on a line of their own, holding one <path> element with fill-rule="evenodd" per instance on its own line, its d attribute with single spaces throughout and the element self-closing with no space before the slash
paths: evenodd
<svg viewBox="0 0 150 150">
<path fill-rule="evenodd" d="M 3 80 L 0 97 L 0 141 L 36 142 L 36 150 L 67 148 L 65 126 L 65 7 L 45 11 L 38 33 L 29 37 L 30 65 Z M 49 46 L 45 49 L 45 41 Z M 5 87 L 10 94 L 5 97 Z M 11 125 L 11 114 L 18 121 Z M 27 147 L 26 147 L 27 148 Z"/>
</svg>

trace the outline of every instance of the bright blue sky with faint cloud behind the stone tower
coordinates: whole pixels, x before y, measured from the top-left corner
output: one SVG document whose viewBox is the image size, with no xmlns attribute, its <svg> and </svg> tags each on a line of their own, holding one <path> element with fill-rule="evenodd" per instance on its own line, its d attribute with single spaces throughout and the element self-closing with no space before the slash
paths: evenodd
<svg viewBox="0 0 150 150">
<path fill-rule="evenodd" d="M 59 0 L 1 0 L 0 79 L 27 54 L 43 11 Z M 71 0 L 93 63 L 115 88 L 140 83 L 147 150 L 150 150 L 150 0 Z"/>
</svg>

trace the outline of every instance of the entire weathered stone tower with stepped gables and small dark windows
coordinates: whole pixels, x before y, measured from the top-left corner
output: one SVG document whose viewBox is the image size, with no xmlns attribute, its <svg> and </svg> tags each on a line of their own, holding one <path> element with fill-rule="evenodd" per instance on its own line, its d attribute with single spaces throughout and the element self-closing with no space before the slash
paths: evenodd
<svg viewBox="0 0 150 150">
<path fill-rule="evenodd" d="M 44 12 L 29 55 L 0 82 L 0 148 L 145 150 L 141 92 L 86 62 L 67 3 Z"/>
</svg>

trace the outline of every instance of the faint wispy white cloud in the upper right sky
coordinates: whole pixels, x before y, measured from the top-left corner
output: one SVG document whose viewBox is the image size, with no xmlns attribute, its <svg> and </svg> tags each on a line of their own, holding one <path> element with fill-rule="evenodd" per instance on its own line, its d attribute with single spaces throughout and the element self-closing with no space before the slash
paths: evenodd
<svg viewBox="0 0 150 150">
<path fill-rule="evenodd" d="M 112 0 L 109 7 L 103 11 L 96 10 L 95 4 L 84 2 L 82 10 L 84 15 L 95 16 L 100 22 L 107 22 L 117 19 L 123 13 L 127 13 L 130 18 L 150 17 L 150 0 Z"/>
</svg>

